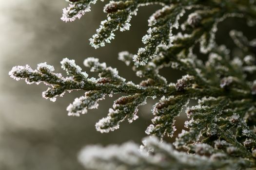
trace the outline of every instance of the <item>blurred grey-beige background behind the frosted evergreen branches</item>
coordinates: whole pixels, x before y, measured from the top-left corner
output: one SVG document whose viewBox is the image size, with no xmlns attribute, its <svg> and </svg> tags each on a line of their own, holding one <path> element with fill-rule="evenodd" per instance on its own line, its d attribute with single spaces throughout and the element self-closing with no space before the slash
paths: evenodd
<svg viewBox="0 0 256 170">
<path fill-rule="evenodd" d="M 83 60 L 93 56 L 118 68 L 128 81 L 139 83 L 131 68 L 118 61 L 118 52 L 136 53 L 142 47 L 147 19 L 159 6 L 141 8 L 132 19 L 130 31 L 117 32 L 111 44 L 95 50 L 88 39 L 106 17 L 102 12 L 104 4 L 98 1 L 80 20 L 64 23 L 60 17 L 62 8 L 68 5 L 65 0 L 0 0 L 0 170 L 83 170 L 77 161 L 83 146 L 128 140 L 139 143 L 146 136 L 144 131 L 152 118 L 150 110 L 157 100 L 140 107 L 140 119 L 132 124 L 124 122 L 117 131 L 100 134 L 94 125 L 107 115 L 118 96 L 99 102 L 98 109 L 89 110 L 87 115 L 68 117 L 66 107 L 84 91 L 66 93 L 53 103 L 41 97 L 45 85 L 26 85 L 8 75 L 13 66 L 28 64 L 36 68 L 41 62 L 63 73 L 59 64 L 62 58 L 75 59 L 84 68 Z M 242 28 L 244 21 L 236 19 L 239 22 L 237 26 Z M 232 23 L 234 20 L 224 23 L 221 35 L 228 35 Z M 232 44 L 227 36 L 219 41 Z M 170 68 L 162 69 L 161 74 L 169 82 L 176 82 L 182 75 Z M 184 121 L 184 116 L 178 118 L 179 130 Z"/>
</svg>

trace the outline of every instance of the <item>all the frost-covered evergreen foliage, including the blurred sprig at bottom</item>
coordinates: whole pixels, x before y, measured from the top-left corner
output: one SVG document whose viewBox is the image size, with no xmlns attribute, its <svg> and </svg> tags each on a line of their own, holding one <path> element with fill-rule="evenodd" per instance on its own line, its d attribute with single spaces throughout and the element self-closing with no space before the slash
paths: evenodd
<svg viewBox="0 0 256 170">
<path fill-rule="evenodd" d="M 96 0 L 68 0 L 62 20 L 73 21 L 90 10 Z M 138 119 L 139 106 L 148 98 L 160 99 L 152 108 L 154 118 L 145 129 L 147 137 L 140 150 L 137 144 L 86 147 L 79 161 L 93 170 L 240 170 L 256 168 L 256 39 L 231 30 L 236 53 L 217 44 L 218 23 L 227 17 L 243 17 L 248 26 L 256 23 L 255 0 L 118 0 L 104 7 L 107 19 L 90 39 L 94 48 L 114 39 L 117 30 L 129 30 L 131 17 L 138 7 L 160 4 L 148 20 L 143 36 L 144 47 L 137 54 L 119 53 L 118 59 L 131 67 L 142 80 L 127 82 L 116 68 L 107 67 L 97 58 L 87 58 L 84 66 L 98 72 L 89 78 L 74 60 L 61 61 L 67 77 L 54 73 L 46 63 L 37 69 L 14 67 L 9 75 L 28 84 L 49 85 L 43 97 L 55 101 L 72 90 L 85 95 L 67 107 L 68 115 L 80 116 L 98 107 L 106 95 L 122 94 L 113 108 L 96 123 L 96 129 L 108 133 L 127 119 Z M 244 26 L 246 27 L 246 25 Z M 232 29 L 232 28 L 231 28 Z M 221 30 L 220 30 L 221 31 Z M 250 40 L 249 40 L 250 39 Z M 195 47 L 208 56 L 197 57 Z M 175 83 L 167 82 L 159 69 L 169 67 L 184 72 Z M 188 106 L 189 101 L 197 101 Z M 173 137 L 175 118 L 186 107 L 188 120 L 172 144 L 162 141 Z M 160 142 L 161 141 L 161 142 Z M 181 152 L 182 151 L 182 152 Z M 185 152 L 186 151 L 186 152 Z"/>
</svg>

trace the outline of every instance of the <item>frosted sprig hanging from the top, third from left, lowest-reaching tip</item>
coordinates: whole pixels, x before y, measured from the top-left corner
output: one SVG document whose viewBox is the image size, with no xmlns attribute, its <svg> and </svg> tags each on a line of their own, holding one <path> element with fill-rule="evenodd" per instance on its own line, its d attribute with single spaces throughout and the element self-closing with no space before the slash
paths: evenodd
<svg viewBox="0 0 256 170">
<path fill-rule="evenodd" d="M 178 29 L 179 18 L 184 13 L 182 6 L 171 5 L 163 7 L 150 17 L 148 34 L 142 38 L 145 48 L 139 48 L 138 54 L 134 56 L 136 64 L 145 65 L 148 58 L 155 58 L 159 46 L 172 45 L 172 29 Z"/>
</svg>

